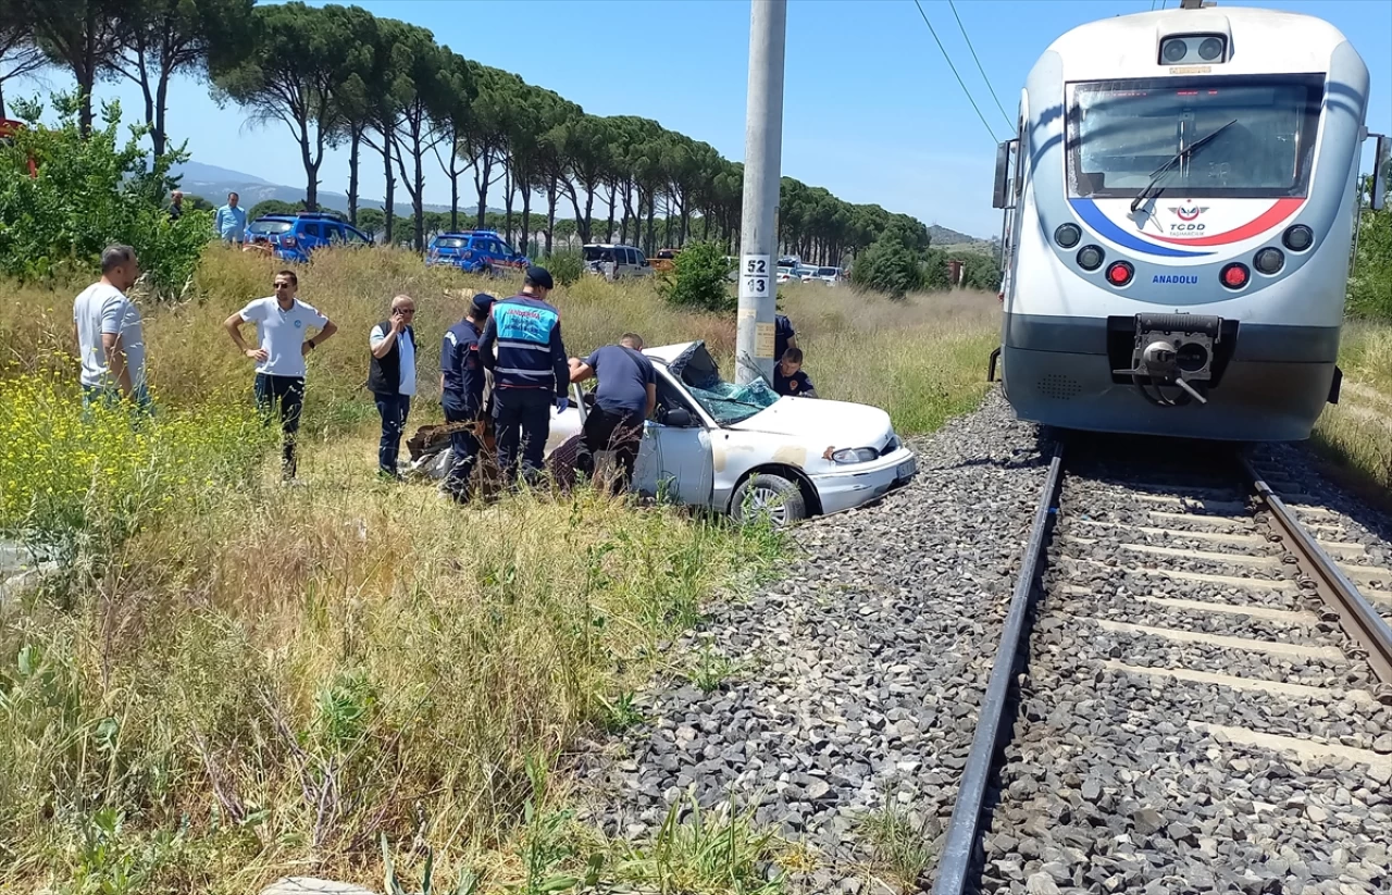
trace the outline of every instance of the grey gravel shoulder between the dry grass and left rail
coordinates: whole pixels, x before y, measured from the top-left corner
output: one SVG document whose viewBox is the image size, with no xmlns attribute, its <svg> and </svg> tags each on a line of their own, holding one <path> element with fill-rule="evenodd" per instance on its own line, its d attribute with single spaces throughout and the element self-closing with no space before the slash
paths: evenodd
<svg viewBox="0 0 1392 895">
<path fill-rule="evenodd" d="M 732 802 L 802 843 L 795 892 L 883 891 L 876 813 L 941 835 L 1045 466 L 998 393 L 913 447 L 909 487 L 799 526 L 780 582 L 674 644 L 686 679 L 585 750 L 586 820 L 639 838 L 688 793 Z"/>
</svg>

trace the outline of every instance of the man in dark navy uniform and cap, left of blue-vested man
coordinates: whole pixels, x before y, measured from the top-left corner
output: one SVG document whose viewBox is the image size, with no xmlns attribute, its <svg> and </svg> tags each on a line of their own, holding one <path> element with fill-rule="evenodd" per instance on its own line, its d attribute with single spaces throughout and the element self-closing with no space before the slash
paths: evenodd
<svg viewBox="0 0 1392 895">
<path fill-rule="evenodd" d="M 447 425 L 473 423 L 483 412 L 483 359 L 479 337 L 489 323 L 493 296 L 479 292 L 469 305 L 469 315 L 445 330 L 440 345 L 440 405 Z M 479 433 L 459 427 L 450 433 L 454 465 L 445 476 L 444 490 L 457 501 L 469 498 L 469 476 L 479 459 Z"/>
</svg>

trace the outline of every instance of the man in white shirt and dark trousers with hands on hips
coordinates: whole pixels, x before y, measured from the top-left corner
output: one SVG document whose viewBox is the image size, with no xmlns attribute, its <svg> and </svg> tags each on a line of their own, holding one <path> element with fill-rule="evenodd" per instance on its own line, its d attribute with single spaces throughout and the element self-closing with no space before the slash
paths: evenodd
<svg viewBox="0 0 1392 895">
<path fill-rule="evenodd" d="M 299 278 L 294 270 L 277 273 L 271 287 L 274 295 L 248 303 L 223 326 L 237 348 L 256 362 L 256 406 L 266 415 L 267 423 L 274 405 L 280 405 L 280 429 L 285 436 L 281 473 L 290 482 L 295 477 L 295 436 L 305 405 L 305 355 L 327 341 L 338 327 L 299 301 Z M 256 324 L 256 348 L 246 347 L 244 323 Z M 306 338 L 310 328 L 319 333 Z"/>
</svg>

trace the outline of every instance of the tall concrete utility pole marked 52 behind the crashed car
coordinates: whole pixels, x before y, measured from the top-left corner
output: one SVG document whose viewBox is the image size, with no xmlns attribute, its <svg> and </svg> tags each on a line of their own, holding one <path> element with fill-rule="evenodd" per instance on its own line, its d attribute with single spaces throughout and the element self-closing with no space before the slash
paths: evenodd
<svg viewBox="0 0 1392 895">
<path fill-rule="evenodd" d="M 784 40 L 788 0 L 752 0 L 745 203 L 739 228 L 739 319 L 735 381 L 774 379 L 778 283 L 778 182 L 782 161 Z"/>
</svg>

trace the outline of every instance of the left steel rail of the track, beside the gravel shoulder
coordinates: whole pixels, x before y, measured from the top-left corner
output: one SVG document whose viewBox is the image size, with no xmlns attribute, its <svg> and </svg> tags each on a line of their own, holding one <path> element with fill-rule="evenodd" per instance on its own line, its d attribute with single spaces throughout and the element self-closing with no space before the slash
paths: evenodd
<svg viewBox="0 0 1392 895">
<path fill-rule="evenodd" d="M 991 781 L 991 767 L 997 753 L 1005 745 L 1002 732 L 1006 729 L 1005 707 L 1011 696 L 1011 678 L 1015 676 L 1015 661 L 1025 640 L 1025 625 L 1034 596 L 1038 560 L 1044 551 L 1050 522 L 1055 515 L 1062 473 L 1063 445 L 1055 443 L 1048 476 L 1040 490 L 1038 508 L 1034 511 L 1030 540 L 1025 547 L 1025 560 L 1019 578 L 1015 579 L 1015 592 L 1011 594 L 1005 629 L 1001 632 L 1001 643 L 995 649 L 995 661 L 986 686 L 986 699 L 981 702 L 976 734 L 972 736 L 972 750 L 967 753 L 962 782 L 958 786 L 956 805 L 952 807 L 952 820 L 948 824 L 942 853 L 938 859 L 938 877 L 933 885 L 933 895 L 962 895 L 966 889 L 967 871 L 972 869 L 972 857 L 980 835 L 981 806 L 986 803 L 986 788 Z"/>
</svg>

